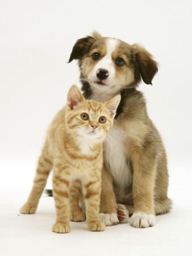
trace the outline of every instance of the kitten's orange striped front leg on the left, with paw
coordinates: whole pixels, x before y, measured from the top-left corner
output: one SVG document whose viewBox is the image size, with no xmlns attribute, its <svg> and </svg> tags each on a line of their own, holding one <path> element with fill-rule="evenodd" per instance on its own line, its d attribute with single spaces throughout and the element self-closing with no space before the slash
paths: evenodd
<svg viewBox="0 0 192 256">
<path fill-rule="evenodd" d="M 62 173 L 62 175 L 61 175 Z M 53 196 L 56 207 L 56 222 L 52 231 L 56 233 L 69 233 L 69 184 L 70 176 L 64 175 L 63 170 L 54 170 Z"/>
</svg>

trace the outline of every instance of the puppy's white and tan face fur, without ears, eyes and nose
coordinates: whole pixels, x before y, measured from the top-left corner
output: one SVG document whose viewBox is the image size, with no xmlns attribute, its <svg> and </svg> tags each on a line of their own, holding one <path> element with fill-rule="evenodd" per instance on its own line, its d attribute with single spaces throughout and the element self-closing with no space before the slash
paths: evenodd
<svg viewBox="0 0 192 256">
<path fill-rule="evenodd" d="M 87 81 L 92 90 L 92 98 L 97 101 L 106 101 L 127 85 L 127 81 L 133 81 L 133 71 L 128 62 L 127 56 L 122 53 L 122 42 L 118 39 L 106 38 L 103 42 L 91 49 L 89 61 L 85 59 L 84 67 L 87 74 Z M 94 53 L 99 53 L 98 60 L 93 59 Z M 116 59 L 123 59 L 124 64 L 118 67 Z M 105 79 L 99 79 L 99 70 L 107 72 Z M 107 94 L 106 94 L 107 93 Z"/>
</svg>

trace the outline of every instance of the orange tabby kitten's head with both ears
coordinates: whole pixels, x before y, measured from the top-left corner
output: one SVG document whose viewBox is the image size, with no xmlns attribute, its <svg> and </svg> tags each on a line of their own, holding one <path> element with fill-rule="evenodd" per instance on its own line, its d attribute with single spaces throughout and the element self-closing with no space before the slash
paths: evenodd
<svg viewBox="0 0 192 256">
<path fill-rule="evenodd" d="M 101 103 L 85 100 L 80 89 L 73 85 L 68 92 L 66 124 L 74 137 L 82 139 L 104 139 L 111 129 L 120 95 Z"/>
</svg>

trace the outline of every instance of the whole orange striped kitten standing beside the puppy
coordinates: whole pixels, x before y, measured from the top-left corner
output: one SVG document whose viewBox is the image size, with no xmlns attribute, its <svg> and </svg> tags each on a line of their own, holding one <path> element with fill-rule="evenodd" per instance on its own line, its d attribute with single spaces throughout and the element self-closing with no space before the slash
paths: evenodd
<svg viewBox="0 0 192 256">
<path fill-rule="evenodd" d="M 21 213 L 35 213 L 53 168 L 56 207 L 53 232 L 70 232 L 69 218 L 85 220 L 79 205 L 82 192 L 88 228 L 105 230 L 105 224 L 99 220 L 103 141 L 112 127 L 119 101 L 120 95 L 104 104 L 85 100 L 76 85 L 70 88 L 66 107 L 60 110 L 48 129 L 34 185 Z"/>
</svg>

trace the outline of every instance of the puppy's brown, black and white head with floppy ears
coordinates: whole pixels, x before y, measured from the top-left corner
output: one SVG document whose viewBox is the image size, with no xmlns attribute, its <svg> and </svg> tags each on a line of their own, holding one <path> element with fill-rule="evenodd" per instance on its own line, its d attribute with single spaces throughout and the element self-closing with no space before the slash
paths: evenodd
<svg viewBox="0 0 192 256">
<path fill-rule="evenodd" d="M 137 86 L 141 78 L 145 84 L 152 84 L 157 72 L 151 53 L 139 44 L 105 38 L 98 32 L 77 40 L 69 62 L 73 59 L 78 59 L 83 84 L 110 94 Z"/>
</svg>

